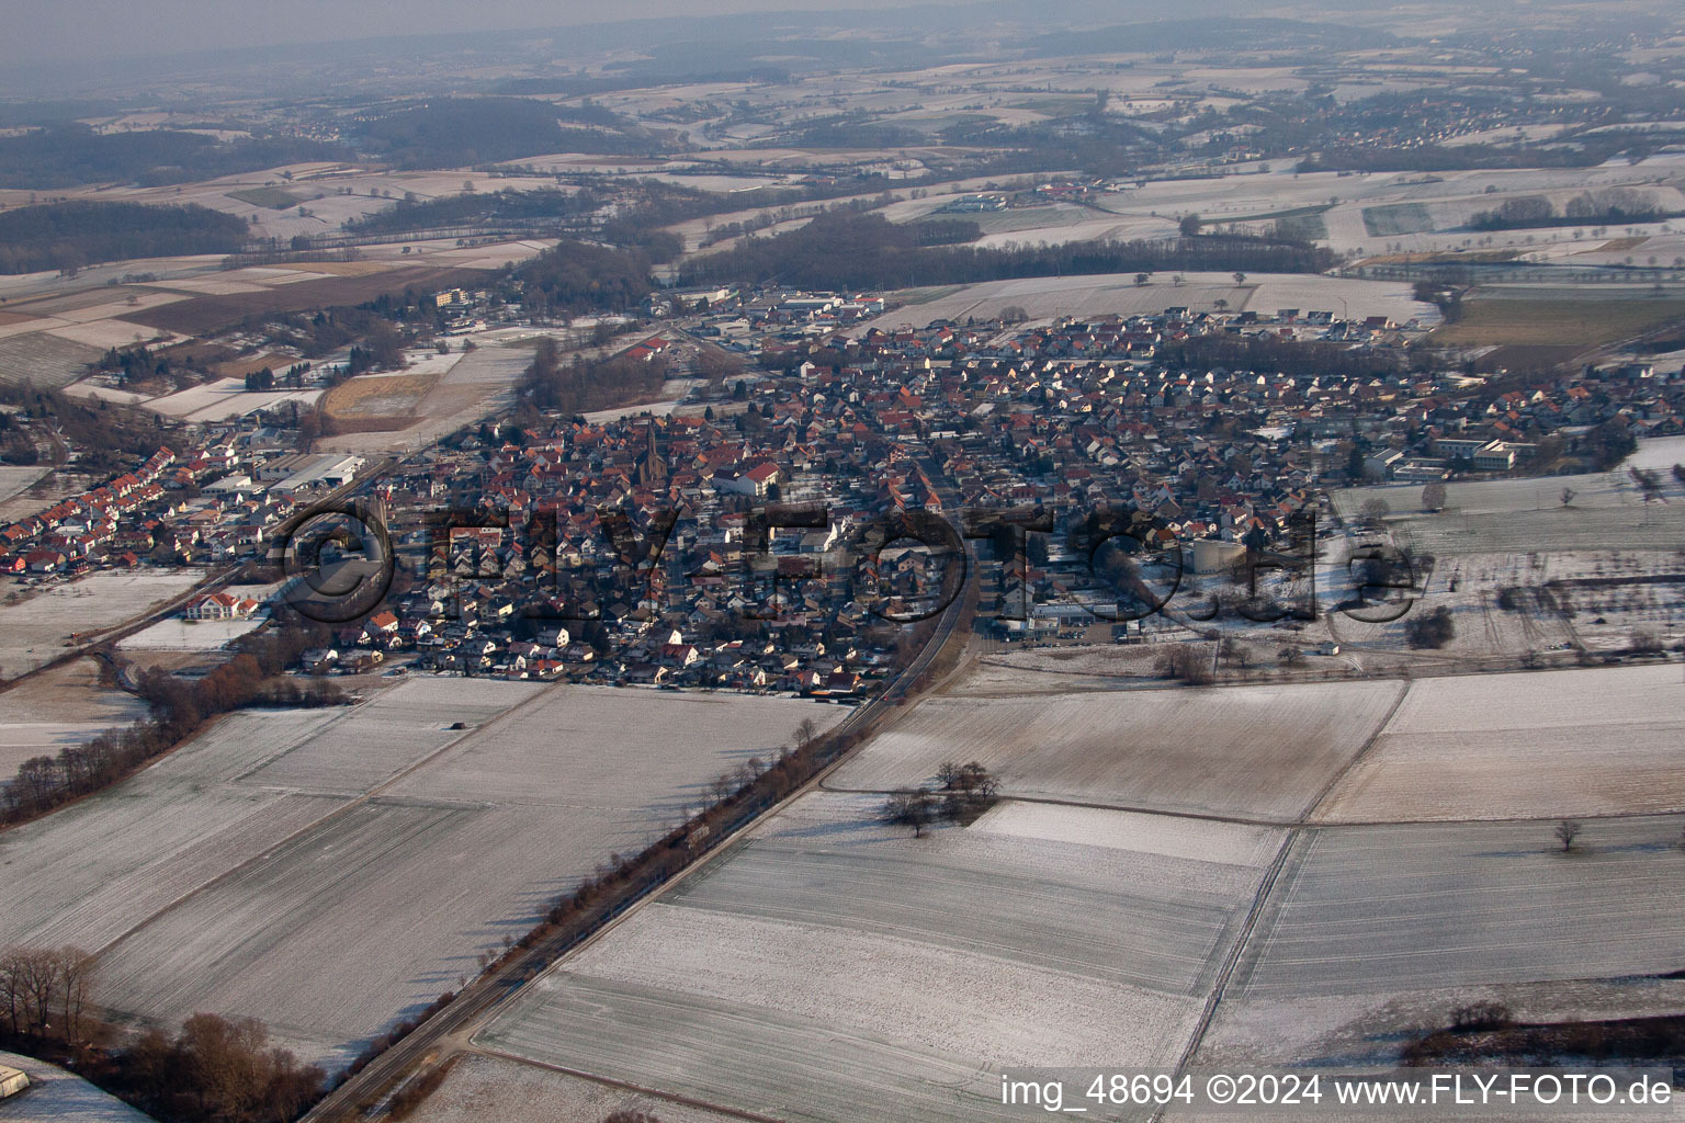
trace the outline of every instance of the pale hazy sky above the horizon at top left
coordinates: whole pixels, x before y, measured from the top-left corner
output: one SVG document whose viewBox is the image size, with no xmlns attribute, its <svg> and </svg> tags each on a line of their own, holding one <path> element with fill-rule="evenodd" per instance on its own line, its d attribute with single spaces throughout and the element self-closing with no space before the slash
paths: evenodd
<svg viewBox="0 0 1685 1123">
<path fill-rule="evenodd" d="M 895 0 L 849 0 L 885 7 Z M 659 15 L 832 8 L 839 0 L 0 0 L 0 64 Z"/>
</svg>

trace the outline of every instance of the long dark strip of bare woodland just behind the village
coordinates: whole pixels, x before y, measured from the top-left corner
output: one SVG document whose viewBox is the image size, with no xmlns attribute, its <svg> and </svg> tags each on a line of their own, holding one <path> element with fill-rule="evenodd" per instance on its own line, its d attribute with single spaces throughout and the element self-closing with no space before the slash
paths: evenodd
<svg viewBox="0 0 1685 1123">
<path fill-rule="evenodd" d="M 682 269 L 682 283 L 775 279 L 799 288 L 863 290 L 1161 269 L 1321 273 L 1333 263 L 1323 247 L 1237 236 L 933 247 L 920 244 L 913 226 L 878 214 L 831 212 L 800 229 L 696 258 Z"/>
</svg>

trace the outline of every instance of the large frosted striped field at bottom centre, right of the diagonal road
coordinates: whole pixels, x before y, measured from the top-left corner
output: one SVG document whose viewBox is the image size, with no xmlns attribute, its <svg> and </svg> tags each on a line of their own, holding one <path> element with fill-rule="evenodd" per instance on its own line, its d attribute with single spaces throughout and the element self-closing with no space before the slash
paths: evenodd
<svg viewBox="0 0 1685 1123">
<path fill-rule="evenodd" d="M 1131 817 L 1013 805 L 915 840 L 876 806 L 800 800 L 477 1042 L 787 1120 L 1014 1118 L 1001 1067 L 1174 1062 L 1274 855 L 1212 823 L 1142 860 Z"/>
</svg>

